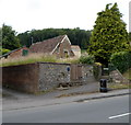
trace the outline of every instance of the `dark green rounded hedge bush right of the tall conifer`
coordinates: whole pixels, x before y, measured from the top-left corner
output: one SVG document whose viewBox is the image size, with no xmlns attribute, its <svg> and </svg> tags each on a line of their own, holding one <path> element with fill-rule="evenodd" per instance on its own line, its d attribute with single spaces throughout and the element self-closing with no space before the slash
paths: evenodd
<svg viewBox="0 0 131 125">
<path fill-rule="evenodd" d="M 110 61 L 121 73 L 123 73 L 129 68 L 131 68 L 131 50 L 112 54 Z"/>
</svg>

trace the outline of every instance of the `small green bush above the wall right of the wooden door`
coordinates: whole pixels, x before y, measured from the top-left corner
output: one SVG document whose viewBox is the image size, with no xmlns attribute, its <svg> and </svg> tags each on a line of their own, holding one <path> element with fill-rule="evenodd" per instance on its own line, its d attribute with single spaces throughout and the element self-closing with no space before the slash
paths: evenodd
<svg viewBox="0 0 131 125">
<path fill-rule="evenodd" d="M 87 64 L 87 65 L 93 65 L 94 64 L 94 56 L 81 56 L 80 57 L 80 63 L 81 64 Z"/>
</svg>

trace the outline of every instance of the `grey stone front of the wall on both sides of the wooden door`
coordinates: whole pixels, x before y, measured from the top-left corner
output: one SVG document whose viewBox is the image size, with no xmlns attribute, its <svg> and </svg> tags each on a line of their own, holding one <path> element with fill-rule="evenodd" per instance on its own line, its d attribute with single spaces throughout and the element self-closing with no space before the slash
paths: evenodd
<svg viewBox="0 0 131 125">
<path fill-rule="evenodd" d="M 70 64 L 40 63 L 39 90 L 40 91 L 50 90 L 59 87 L 59 84 L 66 84 L 66 83 L 74 86 L 79 83 L 81 84 L 81 83 L 88 83 L 95 81 L 93 75 L 93 66 L 82 65 L 81 68 L 82 77 L 80 79 L 74 79 L 73 81 L 71 79 L 71 70 L 72 70 L 71 68 L 72 65 Z"/>
</svg>

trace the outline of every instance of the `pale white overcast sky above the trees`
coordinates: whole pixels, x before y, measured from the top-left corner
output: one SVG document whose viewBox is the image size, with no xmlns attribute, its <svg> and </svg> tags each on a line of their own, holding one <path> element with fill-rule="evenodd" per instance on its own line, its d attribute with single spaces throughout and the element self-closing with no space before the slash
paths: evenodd
<svg viewBox="0 0 131 125">
<path fill-rule="evenodd" d="M 129 31 L 130 0 L 0 0 L 0 25 L 17 33 L 48 27 L 93 30 L 97 13 L 115 2 Z"/>
</svg>

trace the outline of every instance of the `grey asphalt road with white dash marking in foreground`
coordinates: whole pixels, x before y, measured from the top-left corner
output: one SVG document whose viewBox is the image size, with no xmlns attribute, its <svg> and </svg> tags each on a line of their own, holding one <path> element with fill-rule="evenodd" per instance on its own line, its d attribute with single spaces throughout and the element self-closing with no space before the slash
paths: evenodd
<svg viewBox="0 0 131 125">
<path fill-rule="evenodd" d="M 129 123 L 129 95 L 3 112 L 3 123 Z"/>
</svg>

